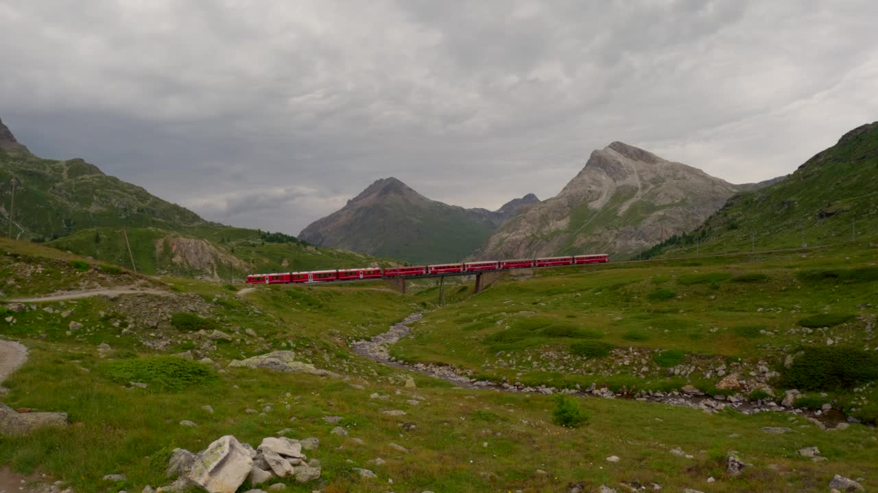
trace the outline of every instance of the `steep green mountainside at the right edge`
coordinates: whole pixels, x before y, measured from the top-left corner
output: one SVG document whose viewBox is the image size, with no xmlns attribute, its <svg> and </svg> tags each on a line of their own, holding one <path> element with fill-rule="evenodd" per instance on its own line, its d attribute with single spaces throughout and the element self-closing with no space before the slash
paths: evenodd
<svg viewBox="0 0 878 493">
<path fill-rule="evenodd" d="M 878 232 L 878 122 L 862 125 L 785 180 L 730 198 L 705 223 L 645 254 L 719 253 L 874 238 Z M 856 224 L 854 225 L 854 221 Z"/>
</svg>

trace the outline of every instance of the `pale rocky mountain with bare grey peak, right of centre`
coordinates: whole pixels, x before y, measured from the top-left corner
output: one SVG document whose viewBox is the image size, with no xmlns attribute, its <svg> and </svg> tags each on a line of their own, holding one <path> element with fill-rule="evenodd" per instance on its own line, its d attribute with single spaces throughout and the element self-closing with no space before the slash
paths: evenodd
<svg viewBox="0 0 878 493">
<path fill-rule="evenodd" d="M 510 219 L 471 258 L 578 253 L 630 258 L 701 225 L 737 192 L 738 186 L 700 169 L 613 142 L 594 151 L 558 196 Z"/>
</svg>

